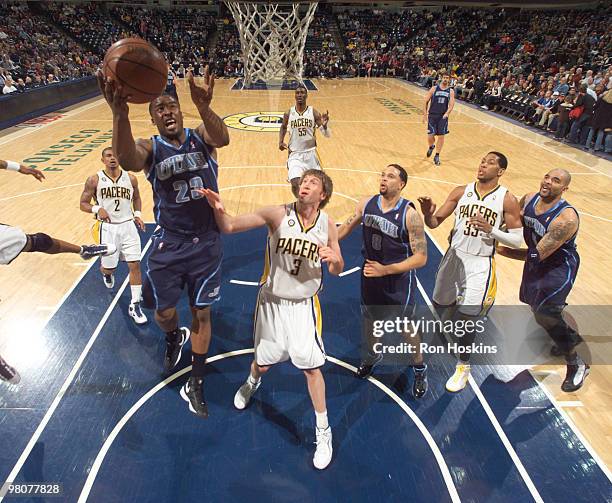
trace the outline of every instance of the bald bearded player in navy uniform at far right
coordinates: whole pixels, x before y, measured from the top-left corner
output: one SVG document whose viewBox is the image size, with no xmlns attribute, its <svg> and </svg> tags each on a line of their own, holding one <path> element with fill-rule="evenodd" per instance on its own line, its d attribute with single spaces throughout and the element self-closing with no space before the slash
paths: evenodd
<svg viewBox="0 0 612 503">
<path fill-rule="evenodd" d="M 501 255 L 525 261 L 520 299 L 529 304 L 538 324 L 553 339 L 552 353 L 565 356 L 567 374 L 561 389 L 566 392 L 580 389 L 589 373 L 589 365 L 575 350 L 582 339 L 563 319 L 580 265 L 578 212 L 562 198 L 570 181 L 571 175 L 564 169 L 546 173 L 540 192 L 521 199 L 527 249 L 498 247 Z"/>
</svg>

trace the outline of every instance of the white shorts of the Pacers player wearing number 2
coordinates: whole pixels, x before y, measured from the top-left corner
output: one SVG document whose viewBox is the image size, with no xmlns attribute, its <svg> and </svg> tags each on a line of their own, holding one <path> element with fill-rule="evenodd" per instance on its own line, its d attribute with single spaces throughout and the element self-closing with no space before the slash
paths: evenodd
<svg viewBox="0 0 612 503">
<path fill-rule="evenodd" d="M 119 260 L 140 261 L 140 236 L 134 220 L 120 224 L 96 221 L 92 233 L 97 243 L 114 244 L 117 247 L 117 251 L 112 255 L 100 257 L 104 269 L 115 269 Z"/>
</svg>

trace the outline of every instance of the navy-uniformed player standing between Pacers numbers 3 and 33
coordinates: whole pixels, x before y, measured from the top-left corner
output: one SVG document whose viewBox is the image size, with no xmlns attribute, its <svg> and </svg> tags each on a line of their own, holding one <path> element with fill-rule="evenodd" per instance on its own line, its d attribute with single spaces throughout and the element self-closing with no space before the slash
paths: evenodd
<svg viewBox="0 0 612 503">
<path fill-rule="evenodd" d="M 400 306 L 406 316 L 413 313 L 417 288 L 414 271 L 427 262 L 423 219 L 414 204 L 401 196 L 407 181 L 406 170 L 399 164 L 387 166 L 381 174 L 379 194 L 362 199 L 338 229 L 338 238 L 344 239 L 363 224 L 361 303 L 368 337 L 376 317 L 371 312 L 374 306 Z M 382 360 L 380 353 L 374 354 L 371 349 L 369 353 L 357 370 L 359 377 L 369 376 Z M 427 367 L 421 363 L 413 368 L 413 393 L 420 398 L 427 392 Z"/>
</svg>

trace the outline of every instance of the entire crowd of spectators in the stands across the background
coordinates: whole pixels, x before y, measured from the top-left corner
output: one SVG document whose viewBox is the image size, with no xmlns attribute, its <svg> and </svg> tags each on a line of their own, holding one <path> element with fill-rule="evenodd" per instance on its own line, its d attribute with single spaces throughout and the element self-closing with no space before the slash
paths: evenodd
<svg viewBox="0 0 612 503">
<path fill-rule="evenodd" d="M 178 77 L 202 74 L 205 64 L 220 77 L 243 74 L 240 37 L 227 13 L 210 54 L 217 17 L 202 9 L 4 1 L 0 18 L 3 94 L 91 75 L 106 48 L 126 36 L 158 46 Z M 564 11 L 328 9 L 309 27 L 304 76 L 400 76 L 429 87 L 446 72 L 461 100 L 609 151 L 611 19 L 604 4 Z"/>
</svg>

